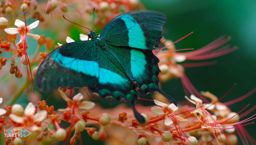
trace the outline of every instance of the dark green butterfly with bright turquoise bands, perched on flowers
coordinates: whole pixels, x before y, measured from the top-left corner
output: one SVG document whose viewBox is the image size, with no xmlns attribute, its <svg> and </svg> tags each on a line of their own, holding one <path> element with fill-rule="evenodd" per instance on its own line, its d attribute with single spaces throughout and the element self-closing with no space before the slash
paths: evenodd
<svg viewBox="0 0 256 145">
<path fill-rule="evenodd" d="M 100 36 L 88 33 L 91 40 L 76 41 L 52 51 L 40 64 L 35 84 L 39 90 L 58 87 L 88 87 L 101 98 L 124 99 L 139 123 L 145 118 L 135 109 L 139 95 L 159 92 L 158 49 L 166 16 L 155 11 L 124 13 L 112 19 Z"/>
</svg>

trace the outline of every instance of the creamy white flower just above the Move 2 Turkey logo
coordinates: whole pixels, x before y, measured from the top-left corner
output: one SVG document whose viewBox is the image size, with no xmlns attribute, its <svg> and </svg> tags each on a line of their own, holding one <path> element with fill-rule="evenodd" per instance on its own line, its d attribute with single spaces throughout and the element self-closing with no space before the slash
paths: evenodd
<svg viewBox="0 0 256 145">
<path fill-rule="evenodd" d="M 30 126 L 33 123 L 43 121 L 47 116 L 46 110 L 42 110 L 40 112 L 37 112 L 36 114 L 35 114 L 35 111 L 36 111 L 35 106 L 33 105 L 33 103 L 29 102 L 24 110 L 24 117 L 15 115 L 13 113 L 11 113 L 9 117 L 14 122 L 22 123 L 22 124 L 26 123 L 26 125 Z"/>
</svg>

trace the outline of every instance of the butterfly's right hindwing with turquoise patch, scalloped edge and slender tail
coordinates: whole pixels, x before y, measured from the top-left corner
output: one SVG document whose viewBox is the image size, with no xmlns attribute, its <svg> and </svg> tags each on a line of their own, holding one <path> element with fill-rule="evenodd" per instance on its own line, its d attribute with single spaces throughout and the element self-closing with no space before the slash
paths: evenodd
<svg viewBox="0 0 256 145">
<path fill-rule="evenodd" d="M 170 102 L 177 105 L 176 101 L 164 93 L 158 86 L 158 75 L 161 72 L 159 59 L 150 50 L 133 49 L 120 46 L 111 46 L 113 53 L 122 64 L 126 74 L 135 83 L 137 92 L 144 96 L 148 93 L 159 92 Z"/>
</svg>

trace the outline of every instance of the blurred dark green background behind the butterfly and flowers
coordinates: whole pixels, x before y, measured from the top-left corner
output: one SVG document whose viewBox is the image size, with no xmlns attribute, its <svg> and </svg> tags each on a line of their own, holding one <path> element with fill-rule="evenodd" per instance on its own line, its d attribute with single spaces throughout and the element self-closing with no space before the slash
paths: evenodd
<svg viewBox="0 0 256 145">
<path fill-rule="evenodd" d="M 230 54 L 210 59 L 217 61 L 217 65 L 188 68 L 186 75 L 197 88 L 198 91 L 210 91 L 219 98 L 223 96 L 235 83 L 234 89 L 222 100 L 227 102 L 238 98 L 255 88 L 256 82 L 256 1 L 252 0 L 141 0 L 146 9 L 164 13 L 167 16 L 167 23 L 164 25 L 164 36 L 166 39 L 176 41 L 190 32 L 192 35 L 175 44 L 176 49 L 194 48 L 198 49 L 210 43 L 220 36 L 231 36 L 228 42 L 231 46 L 237 46 L 238 50 Z M 28 20 L 29 23 L 33 22 Z M 71 38 L 78 40 L 80 33 L 77 29 L 71 30 Z M 51 32 L 39 32 L 52 36 Z M 57 38 L 58 39 L 58 38 Z M 57 40 L 55 42 L 59 42 Z M 200 62 L 200 61 L 188 61 Z M 162 84 L 163 90 L 175 98 L 177 101 L 184 101 L 184 91 L 180 79 L 173 79 Z M 42 99 L 46 99 L 49 93 L 44 93 Z M 249 98 L 230 106 L 234 112 L 240 111 L 250 103 L 251 108 L 256 103 L 256 94 Z M 59 101 L 59 100 L 58 100 Z M 22 96 L 17 101 L 27 104 L 26 96 Z M 109 104 L 109 99 L 97 100 L 103 107 L 114 107 L 118 103 L 113 101 Z M 152 102 L 139 101 L 146 105 L 153 105 Z M 57 108 L 65 107 L 66 102 L 56 103 L 51 98 L 48 105 Z M 248 110 L 246 109 L 246 110 Z M 253 111 L 251 115 L 253 115 Z M 243 118 L 245 119 L 245 118 Z M 255 138 L 256 125 L 245 127 Z M 83 142 L 86 144 L 103 144 L 94 141 L 84 131 L 82 133 Z M 240 142 L 241 143 L 241 142 Z M 239 143 L 239 144 L 240 144 Z"/>
</svg>

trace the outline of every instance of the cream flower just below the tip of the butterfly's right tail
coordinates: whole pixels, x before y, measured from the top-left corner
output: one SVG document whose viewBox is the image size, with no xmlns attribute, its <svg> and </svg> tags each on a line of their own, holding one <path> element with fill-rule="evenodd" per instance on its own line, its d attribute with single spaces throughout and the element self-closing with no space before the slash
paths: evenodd
<svg viewBox="0 0 256 145">
<path fill-rule="evenodd" d="M 187 119 L 181 118 L 179 116 L 173 115 L 172 113 L 176 110 L 178 110 L 178 107 L 175 106 L 173 103 L 169 106 L 165 103 L 162 103 L 160 101 L 154 100 L 155 104 L 158 106 L 154 106 L 151 108 L 151 111 L 155 113 L 156 115 L 165 115 L 164 124 L 165 125 L 171 125 L 173 124 L 172 119 L 175 117 L 178 121 L 187 121 Z"/>
</svg>

